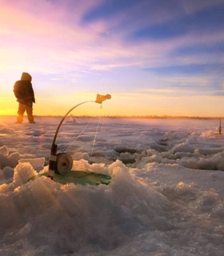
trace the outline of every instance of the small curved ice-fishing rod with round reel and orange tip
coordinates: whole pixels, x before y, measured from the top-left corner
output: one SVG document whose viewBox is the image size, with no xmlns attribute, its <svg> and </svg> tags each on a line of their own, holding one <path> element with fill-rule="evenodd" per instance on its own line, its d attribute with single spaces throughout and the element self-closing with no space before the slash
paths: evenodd
<svg viewBox="0 0 224 256">
<path fill-rule="evenodd" d="M 110 99 L 110 98 L 111 98 L 110 94 L 106 94 L 106 95 L 97 94 L 95 101 L 86 101 L 86 102 L 79 103 L 78 105 L 72 107 L 64 115 L 61 122 L 59 122 L 59 124 L 58 124 L 57 130 L 55 131 L 54 139 L 53 139 L 51 150 L 50 150 L 49 168 L 48 168 L 48 173 L 47 173 L 47 176 L 49 178 L 53 179 L 54 173 L 67 174 L 73 166 L 73 159 L 70 156 L 70 154 L 66 154 L 66 153 L 57 154 L 58 145 L 55 144 L 60 127 L 62 126 L 62 123 L 64 122 L 67 115 L 70 114 L 70 112 L 72 110 L 74 110 L 76 107 L 78 107 L 82 104 L 86 104 L 87 102 L 96 102 L 96 103 L 102 104 L 102 102 L 104 102 L 104 101 L 106 101 L 106 99 Z"/>
</svg>

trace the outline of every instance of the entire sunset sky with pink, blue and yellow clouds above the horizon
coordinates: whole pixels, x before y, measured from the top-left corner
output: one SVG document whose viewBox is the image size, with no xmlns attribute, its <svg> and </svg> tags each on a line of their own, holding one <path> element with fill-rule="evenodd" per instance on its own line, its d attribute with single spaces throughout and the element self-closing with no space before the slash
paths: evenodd
<svg viewBox="0 0 224 256">
<path fill-rule="evenodd" d="M 0 115 L 224 116 L 224 0 L 0 0 Z"/>
</svg>

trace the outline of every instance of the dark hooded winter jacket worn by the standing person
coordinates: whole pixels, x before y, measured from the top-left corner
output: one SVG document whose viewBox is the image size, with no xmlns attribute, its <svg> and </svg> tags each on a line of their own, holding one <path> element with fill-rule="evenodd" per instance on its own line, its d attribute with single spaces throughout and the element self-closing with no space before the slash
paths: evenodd
<svg viewBox="0 0 224 256">
<path fill-rule="evenodd" d="M 22 73 L 21 80 L 14 84 L 14 95 L 19 103 L 32 106 L 35 102 L 34 90 L 31 83 L 32 77 L 28 73 Z"/>
</svg>

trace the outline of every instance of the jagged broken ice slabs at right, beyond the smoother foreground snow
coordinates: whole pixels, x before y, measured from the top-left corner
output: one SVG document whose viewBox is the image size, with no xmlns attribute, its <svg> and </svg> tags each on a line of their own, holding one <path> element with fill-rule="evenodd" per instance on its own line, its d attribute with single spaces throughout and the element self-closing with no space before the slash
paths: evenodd
<svg viewBox="0 0 224 256">
<path fill-rule="evenodd" d="M 144 166 L 147 162 L 162 164 L 178 163 L 190 169 L 224 170 L 224 137 L 214 131 L 181 133 L 167 132 L 150 149 L 135 154 L 133 166 Z"/>
</svg>

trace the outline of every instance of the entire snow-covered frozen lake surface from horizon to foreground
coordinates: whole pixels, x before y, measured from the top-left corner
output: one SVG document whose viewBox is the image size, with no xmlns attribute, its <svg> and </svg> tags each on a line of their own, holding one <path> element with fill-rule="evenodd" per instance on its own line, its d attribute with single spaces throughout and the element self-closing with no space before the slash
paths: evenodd
<svg viewBox="0 0 224 256">
<path fill-rule="evenodd" d="M 76 118 L 58 153 L 110 185 L 27 182 L 48 170 L 60 120 L 0 119 L 0 255 L 224 254 L 218 120 Z"/>
</svg>

